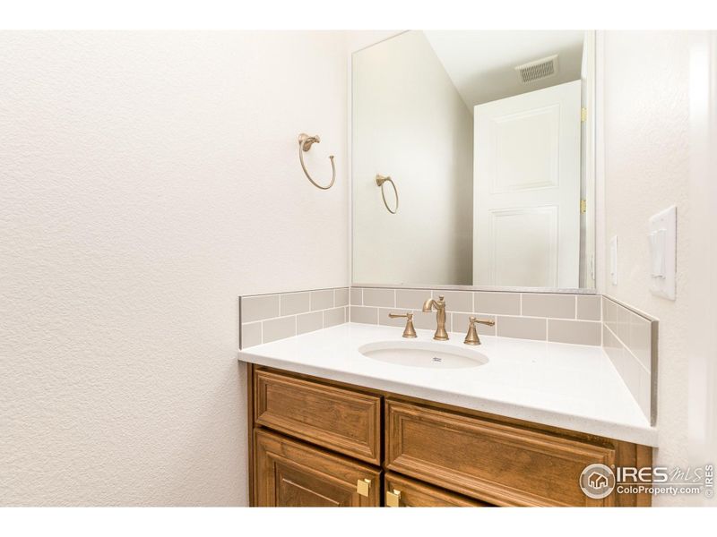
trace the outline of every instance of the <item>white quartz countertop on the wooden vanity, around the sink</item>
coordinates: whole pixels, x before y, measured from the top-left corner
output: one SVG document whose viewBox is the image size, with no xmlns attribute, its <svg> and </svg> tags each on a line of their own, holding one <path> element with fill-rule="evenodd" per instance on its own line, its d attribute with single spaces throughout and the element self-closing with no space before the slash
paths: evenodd
<svg viewBox="0 0 717 537">
<path fill-rule="evenodd" d="M 417 330 L 432 341 L 432 330 Z M 451 333 L 440 345 L 471 348 L 489 362 L 435 369 L 368 358 L 358 347 L 406 341 L 402 328 L 347 323 L 239 351 L 241 362 L 391 391 L 446 405 L 657 446 L 657 429 L 637 405 L 608 355 L 598 346 L 481 336 L 463 345 Z M 416 341 L 416 340 L 413 340 Z"/>
</svg>

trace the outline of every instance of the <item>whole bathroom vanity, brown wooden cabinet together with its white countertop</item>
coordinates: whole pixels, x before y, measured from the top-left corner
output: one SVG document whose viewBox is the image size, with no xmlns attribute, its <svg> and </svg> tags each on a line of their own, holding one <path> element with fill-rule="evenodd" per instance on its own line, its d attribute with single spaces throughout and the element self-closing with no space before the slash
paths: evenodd
<svg viewBox="0 0 717 537">
<path fill-rule="evenodd" d="M 423 345 L 462 351 L 451 336 L 433 343 L 419 330 Z M 349 323 L 240 352 L 253 506 L 650 505 L 649 495 L 591 499 L 580 488 L 587 465 L 651 465 L 656 441 L 599 348 L 483 337 L 473 367 L 360 352 L 401 339 Z M 583 367 L 596 384 L 575 387 Z"/>
</svg>

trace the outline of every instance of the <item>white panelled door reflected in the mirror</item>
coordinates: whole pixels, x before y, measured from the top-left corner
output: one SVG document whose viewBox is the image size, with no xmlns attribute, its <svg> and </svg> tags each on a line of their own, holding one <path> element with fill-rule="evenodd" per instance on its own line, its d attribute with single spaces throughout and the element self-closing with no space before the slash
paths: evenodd
<svg viewBox="0 0 717 537">
<path fill-rule="evenodd" d="M 475 107 L 473 285 L 579 286 L 580 92 Z"/>
</svg>

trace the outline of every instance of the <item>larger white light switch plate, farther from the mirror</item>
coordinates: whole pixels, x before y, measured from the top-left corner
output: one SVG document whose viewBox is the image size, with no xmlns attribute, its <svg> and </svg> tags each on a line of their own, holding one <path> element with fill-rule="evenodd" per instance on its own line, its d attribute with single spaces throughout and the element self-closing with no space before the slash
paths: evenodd
<svg viewBox="0 0 717 537">
<path fill-rule="evenodd" d="M 650 218 L 650 291 L 675 300 L 678 212 L 673 205 Z"/>
</svg>

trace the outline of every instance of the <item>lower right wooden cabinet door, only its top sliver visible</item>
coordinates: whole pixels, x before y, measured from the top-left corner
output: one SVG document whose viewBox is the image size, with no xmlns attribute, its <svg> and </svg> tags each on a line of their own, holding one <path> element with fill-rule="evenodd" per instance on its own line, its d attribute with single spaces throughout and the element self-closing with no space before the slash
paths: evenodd
<svg viewBox="0 0 717 537">
<path fill-rule="evenodd" d="M 386 473 L 384 483 L 384 500 L 388 507 L 486 507 L 487 505 L 477 499 L 438 489 L 396 473 Z M 398 506 L 391 506 L 392 499 L 398 503 Z"/>
</svg>

